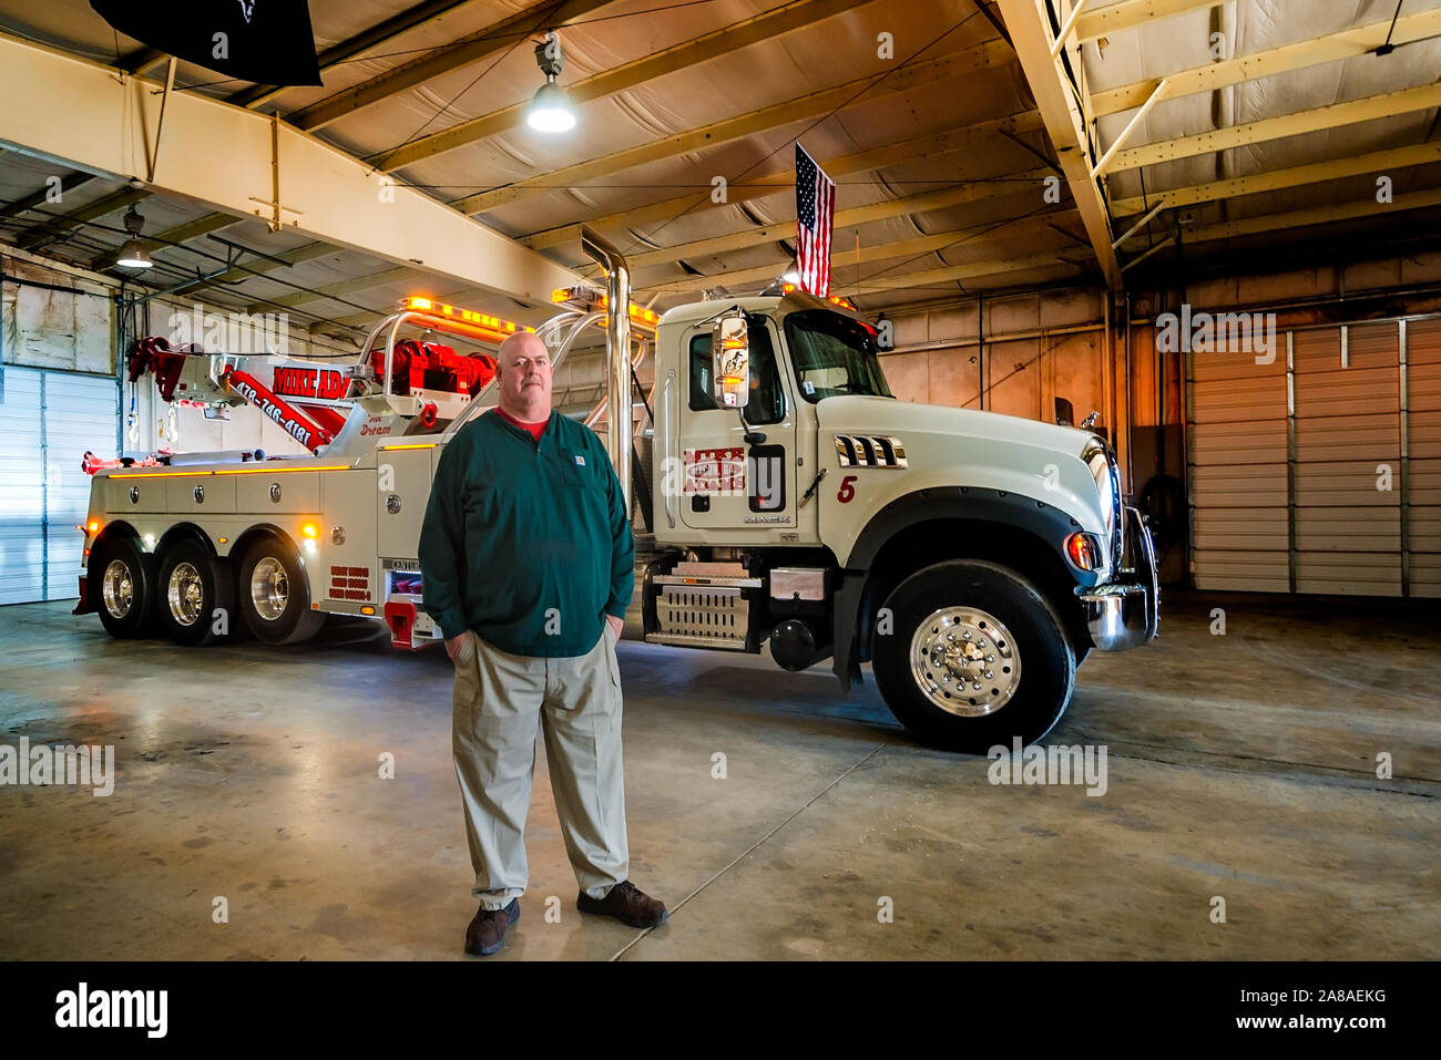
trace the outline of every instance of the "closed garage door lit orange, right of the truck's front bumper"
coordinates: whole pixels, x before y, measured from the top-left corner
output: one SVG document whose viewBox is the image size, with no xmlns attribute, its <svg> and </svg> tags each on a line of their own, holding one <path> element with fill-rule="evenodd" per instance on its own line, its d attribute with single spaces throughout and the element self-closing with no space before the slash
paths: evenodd
<svg viewBox="0 0 1441 1060">
<path fill-rule="evenodd" d="M 1441 595 L 1441 321 L 1278 338 L 1189 356 L 1195 586 Z"/>
</svg>

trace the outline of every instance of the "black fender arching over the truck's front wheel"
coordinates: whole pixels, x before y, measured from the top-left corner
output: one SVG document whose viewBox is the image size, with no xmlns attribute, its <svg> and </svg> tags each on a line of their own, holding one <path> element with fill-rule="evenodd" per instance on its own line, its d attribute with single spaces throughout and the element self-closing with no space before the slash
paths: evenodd
<svg viewBox="0 0 1441 1060">
<path fill-rule="evenodd" d="M 836 589 L 831 614 L 834 655 L 833 671 L 840 678 L 843 690 L 860 684 L 860 654 L 856 650 L 859 637 L 869 637 L 875 608 L 863 606 L 870 588 L 870 569 L 876 556 L 902 530 L 919 523 L 947 518 L 1013 526 L 1029 531 L 1055 549 L 1058 557 L 1072 573 L 1076 585 L 1091 586 L 1099 578 L 1094 572 L 1075 569 L 1066 559 L 1065 542 L 1081 524 L 1061 508 L 1046 501 L 977 485 L 948 485 L 916 490 L 886 504 L 878 511 L 860 536 L 846 560 L 840 588 Z"/>
</svg>

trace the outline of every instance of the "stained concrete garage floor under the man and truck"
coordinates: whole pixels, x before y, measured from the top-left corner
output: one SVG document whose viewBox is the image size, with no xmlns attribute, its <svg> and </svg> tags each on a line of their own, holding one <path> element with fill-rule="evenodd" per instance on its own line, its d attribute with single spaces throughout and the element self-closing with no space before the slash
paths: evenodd
<svg viewBox="0 0 1441 1060">
<path fill-rule="evenodd" d="M 493 959 L 1434 958 L 1441 628 L 1252 599 L 1212 637 L 1212 606 L 1173 593 L 1160 641 L 1082 668 L 1048 742 L 1107 745 L 1102 798 L 990 785 L 984 758 L 909 742 L 869 677 L 842 699 L 823 668 L 623 642 L 631 874 L 672 919 L 575 910 L 542 766 Z M 395 657 L 369 624 L 115 642 L 69 608 L 0 609 L 0 742 L 112 743 L 117 786 L 0 786 L 0 952 L 463 956 L 441 652 Z"/>
</svg>

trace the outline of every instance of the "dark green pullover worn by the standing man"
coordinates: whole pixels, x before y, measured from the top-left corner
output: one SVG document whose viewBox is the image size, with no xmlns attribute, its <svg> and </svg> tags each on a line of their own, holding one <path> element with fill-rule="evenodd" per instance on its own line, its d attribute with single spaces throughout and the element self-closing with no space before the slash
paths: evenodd
<svg viewBox="0 0 1441 1060">
<path fill-rule="evenodd" d="M 486 412 L 441 452 L 421 529 L 425 611 L 513 655 L 584 655 L 625 616 L 635 540 L 595 432 L 556 412 L 540 441 Z"/>
</svg>

